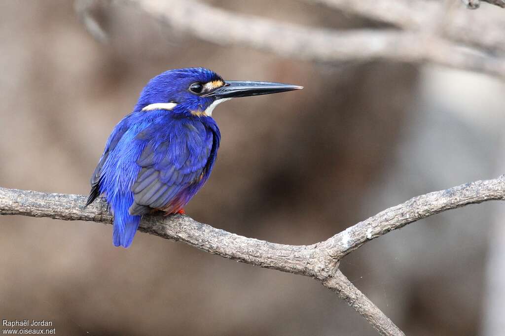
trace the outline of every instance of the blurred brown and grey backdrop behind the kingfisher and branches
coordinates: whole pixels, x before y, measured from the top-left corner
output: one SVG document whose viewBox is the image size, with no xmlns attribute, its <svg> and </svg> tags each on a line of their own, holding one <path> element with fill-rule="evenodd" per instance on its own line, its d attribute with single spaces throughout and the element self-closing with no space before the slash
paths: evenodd
<svg viewBox="0 0 505 336">
<path fill-rule="evenodd" d="M 309 26 L 373 25 L 296 1 L 211 3 Z M 133 6 L 110 6 L 99 19 L 108 44 L 86 32 L 71 2 L 0 2 L 0 186 L 87 194 L 107 137 L 143 85 L 192 66 L 305 86 L 215 111 L 217 164 L 186 212 L 217 228 L 312 244 L 410 197 L 499 175 L 504 98 L 495 79 L 218 46 Z M 470 83 L 473 94 L 462 93 Z M 342 260 L 342 271 L 407 334 L 477 334 L 498 205 L 392 232 Z M 0 319 L 48 319 L 60 335 L 376 334 L 310 278 L 140 233 L 131 248 L 115 248 L 111 230 L 0 217 Z"/>
</svg>

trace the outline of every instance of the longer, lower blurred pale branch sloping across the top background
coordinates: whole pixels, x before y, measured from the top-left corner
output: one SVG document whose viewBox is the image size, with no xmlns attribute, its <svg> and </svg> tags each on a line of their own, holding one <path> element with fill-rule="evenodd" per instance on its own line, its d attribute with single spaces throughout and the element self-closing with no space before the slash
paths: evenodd
<svg viewBox="0 0 505 336">
<path fill-rule="evenodd" d="M 505 60 L 420 32 L 310 28 L 232 13 L 191 0 L 127 2 L 173 29 L 221 45 L 243 45 L 309 61 L 433 63 L 505 77 Z"/>
</svg>

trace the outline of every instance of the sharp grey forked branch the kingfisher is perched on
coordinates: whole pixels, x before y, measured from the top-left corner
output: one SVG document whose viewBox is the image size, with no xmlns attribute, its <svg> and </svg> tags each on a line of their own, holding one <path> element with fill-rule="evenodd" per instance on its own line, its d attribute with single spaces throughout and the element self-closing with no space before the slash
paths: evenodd
<svg viewBox="0 0 505 336">
<path fill-rule="evenodd" d="M 468 204 L 505 199 L 505 176 L 476 181 L 414 197 L 388 208 L 328 240 L 313 245 L 284 245 L 246 238 L 199 223 L 185 215 L 145 216 L 139 231 L 180 240 L 205 252 L 236 261 L 314 277 L 337 292 L 384 335 L 401 335 L 379 308 L 338 270 L 339 260 L 374 238 L 432 214 Z M 103 198 L 84 207 L 81 195 L 0 188 L 0 215 L 25 215 L 112 223 Z"/>
</svg>

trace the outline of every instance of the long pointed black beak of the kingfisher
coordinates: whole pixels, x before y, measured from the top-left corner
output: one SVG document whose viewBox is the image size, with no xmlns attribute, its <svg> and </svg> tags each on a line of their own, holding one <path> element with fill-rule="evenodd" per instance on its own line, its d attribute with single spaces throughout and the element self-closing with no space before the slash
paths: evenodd
<svg viewBox="0 0 505 336">
<path fill-rule="evenodd" d="M 303 89 L 302 86 L 249 81 L 226 81 L 225 85 L 204 96 L 214 96 L 217 99 L 259 96 L 261 94 L 279 93 Z"/>
</svg>

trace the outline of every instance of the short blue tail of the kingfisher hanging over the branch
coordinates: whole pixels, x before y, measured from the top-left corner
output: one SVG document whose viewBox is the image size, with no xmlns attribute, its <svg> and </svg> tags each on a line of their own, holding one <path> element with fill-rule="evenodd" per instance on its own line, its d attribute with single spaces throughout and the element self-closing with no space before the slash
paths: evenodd
<svg viewBox="0 0 505 336">
<path fill-rule="evenodd" d="M 115 246 L 127 248 L 133 242 L 141 216 L 132 216 L 128 212 L 127 202 L 120 202 L 114 211 L 114 226 L 112 229 L 112 242 Z"/>
</svg>

